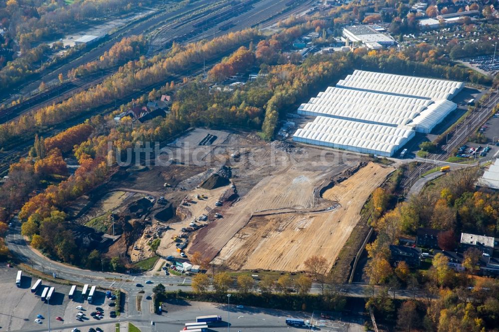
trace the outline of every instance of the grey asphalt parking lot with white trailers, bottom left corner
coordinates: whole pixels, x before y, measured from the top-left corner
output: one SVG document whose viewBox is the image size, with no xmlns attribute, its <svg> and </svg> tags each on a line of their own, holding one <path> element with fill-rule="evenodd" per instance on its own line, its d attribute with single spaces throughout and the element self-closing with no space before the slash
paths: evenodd
<svg viewBox="0 0 499 332">
<path fill-rule="evenodd" d="M 114 301 L 106 299 L 103 291 L 96 291 L 93 304 L 88 304 L 87 301 L 83 300 L 81 288 L 76 291 L 73 299 L 69 299 L 70 286 L 51 284 L 46 281 L 42 281 L 42 286 L 35 293 L 31 293 L 31 287 L 37 279 L 23 273 L 21 285 L 16 287 L 17 271 L 15 267 L 9 268 L 3 264 L 0 267 L 0 294 L 2 294 L 0 331 L 48 328 L 48 317 L 50 317 L 50 328 L 58 331 L 70 324 L 88 322 L 95 322 L 95 325 L 92 325 L 95 328 L 99 326 L 99 320 L 92 318 L 90 314 L 96 312 L 97 307 L 103 309 L 103 319 L 110 319 L 109 312 L 114 310 L 114 307 L 110 307 L 109 303 Z M 47 286 L 55 287 L 55 292 L 49 301 L 43 302 L 41 301 L 41 293 L 43 288 Z M 83 310 L 76 309 L 77 306 L 82 306 Z M 76 320 L 75 315 L 79 311 L 85 314 L 82 321 Z M 41 317 L 37 318 L 37 315 Z M 57 320 L 57 317 L 62 320 Z M 36 323 L 36 319 L 39 319 L 40 323 Z M 87 331 L 88 328 L 85 328 L 84 331 Z M 71 331 L 71 329 L 67 329 L 67 331 Z M 114 331 L 114 325 L 112 325 L 112 329 L 104 331 Z"/>
</svg>

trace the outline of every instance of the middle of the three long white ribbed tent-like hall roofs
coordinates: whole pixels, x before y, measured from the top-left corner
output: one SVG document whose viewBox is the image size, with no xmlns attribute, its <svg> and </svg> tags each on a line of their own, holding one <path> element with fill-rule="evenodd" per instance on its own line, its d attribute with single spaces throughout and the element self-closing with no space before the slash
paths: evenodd
<svg viewBox="0 0 499 332">
<path fill-rule="evenodd" d="M 431 100 L 328 87 L 298 108 L 298 114 L 328 116 L 391 126 L 405 125 Z"/>
</svg>

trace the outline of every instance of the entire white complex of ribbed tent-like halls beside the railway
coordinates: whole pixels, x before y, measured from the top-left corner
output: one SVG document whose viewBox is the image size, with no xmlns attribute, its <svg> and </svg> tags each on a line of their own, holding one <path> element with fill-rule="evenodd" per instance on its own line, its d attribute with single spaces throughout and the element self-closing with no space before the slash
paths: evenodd
<svg viewBox="0 0 499 332">
<path fill-rule="evenodd" d="M 355 70 L 336 87 L 300 105 L 316 116 L 293 140 L 353 152 L 393 156 L 416 133 L 430 133 L 457 104 L 462 82 Z"/>
</svg>

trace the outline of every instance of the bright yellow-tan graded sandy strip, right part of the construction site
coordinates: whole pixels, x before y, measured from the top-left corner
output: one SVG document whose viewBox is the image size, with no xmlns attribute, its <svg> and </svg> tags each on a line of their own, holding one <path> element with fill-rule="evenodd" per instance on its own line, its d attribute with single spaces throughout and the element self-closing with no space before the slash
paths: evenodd
<svg viewBox="0 0 499 332">
<path fill-rule="evenodd" d="M 303 261 L 321 255 L 328 258 L 329 267 L 332 267 L 359 221 L 365 201 L 393 170 L 369 163 L 326 190 L 323 198 L 330 200 L 331 205 L 339 203 L 330 211 L 252 217 L 224 246 L 215 262 L 234 270 L 300 271 L 304 270 Z M 304 197 L 311 192 L 307 190 L 301 191 Z"/>
</svg>

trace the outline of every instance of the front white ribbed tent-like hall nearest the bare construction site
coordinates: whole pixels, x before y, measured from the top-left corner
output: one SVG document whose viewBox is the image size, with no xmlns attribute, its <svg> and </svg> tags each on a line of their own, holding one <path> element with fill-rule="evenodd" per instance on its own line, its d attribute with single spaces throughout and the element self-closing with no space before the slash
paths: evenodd
<svg viewBox="0 0 499 332">
<path fill-rule="evenodd" d="M 415 135 L 410 127 L 390 127 L 318 116 L 293 136 L 296 142 L 366 154 L 392 156 Z"/>
</svg>

